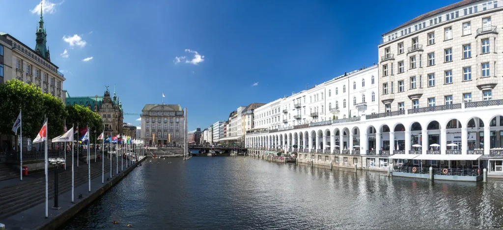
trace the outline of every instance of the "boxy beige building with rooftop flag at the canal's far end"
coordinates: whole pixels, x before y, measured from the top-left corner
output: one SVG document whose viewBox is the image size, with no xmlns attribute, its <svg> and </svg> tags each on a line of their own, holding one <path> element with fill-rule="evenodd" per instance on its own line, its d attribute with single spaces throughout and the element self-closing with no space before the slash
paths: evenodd
<svg viewBox="0 0 503 230">
<path fill-rule="evenodd" d="M 140 117 L 145 144 L 183 144 L 185 118 L 180 105 L 146 104 Z"/>
</svg>

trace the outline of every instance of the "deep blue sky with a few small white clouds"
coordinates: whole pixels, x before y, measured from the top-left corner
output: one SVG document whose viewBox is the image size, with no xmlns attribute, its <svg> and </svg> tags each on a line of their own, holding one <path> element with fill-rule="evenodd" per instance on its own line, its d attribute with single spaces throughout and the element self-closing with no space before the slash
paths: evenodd
<svg viewBox="0 0 503 230">
<path fill-rule="evenodd" d="M 125 113 L 180 104 L 189 130 L 378 62 L 383 33 L 458 2 L 43 1 L 51 61 L 70 96 L 110 86 Z M 0 0 L 0 31 L 35 48 L 39 0 Z M 138 115 L 124 122 L 139 125 Z"/>
</svg>

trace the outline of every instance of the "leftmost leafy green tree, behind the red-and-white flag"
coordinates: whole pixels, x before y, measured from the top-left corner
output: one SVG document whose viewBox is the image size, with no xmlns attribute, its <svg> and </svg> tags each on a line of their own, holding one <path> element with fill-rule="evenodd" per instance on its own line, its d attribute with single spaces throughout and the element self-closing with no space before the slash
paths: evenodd
<svg viewBox="0 0 503 230">
<path fill-rule="evenodd" d="M 34 138 L 44 121 L 42 90 L 14 79 L 0 84 L 0 98 L 0 134 L 14 134 L 12 126 L 22 110 L 23 136 Z"/>
</svg>

